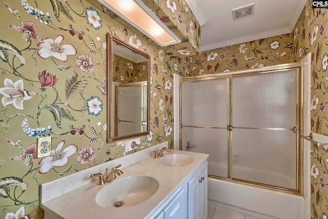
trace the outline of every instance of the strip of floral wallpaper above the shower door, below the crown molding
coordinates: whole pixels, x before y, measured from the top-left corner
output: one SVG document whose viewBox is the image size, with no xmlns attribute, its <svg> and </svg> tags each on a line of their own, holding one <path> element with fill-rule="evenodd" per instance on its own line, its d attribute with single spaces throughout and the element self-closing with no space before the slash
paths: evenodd
<svg viewBox="0 0 328 219">
<path fill-rule="evenodd" d="M 291 34 L 203 51 L 190 57 L 171 58 L 171 70 L 197 76 L 294 62 Z"/>
</svg>

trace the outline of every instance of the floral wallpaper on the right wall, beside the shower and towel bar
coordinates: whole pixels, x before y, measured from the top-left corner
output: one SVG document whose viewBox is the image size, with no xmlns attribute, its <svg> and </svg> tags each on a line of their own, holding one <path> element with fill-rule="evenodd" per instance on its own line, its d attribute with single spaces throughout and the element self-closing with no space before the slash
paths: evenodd
<svg viewBox="0 0 328 219">
<path fill-rule="evenodd" d="M 327 9 L 313 8 L 312 1 L 306 3 L 294 27 L 293 51 L 296 62 L 312 52 L 311 64 L 311 131 L 328 134 L 328 118 L 325 106 L 328 102 L 328 34 Z M 326 147 L 311 146 L 311 217 L 327 218 L 328 150 Z M 309 188 L 310 189 L 310 188 Z"/>
</svg>

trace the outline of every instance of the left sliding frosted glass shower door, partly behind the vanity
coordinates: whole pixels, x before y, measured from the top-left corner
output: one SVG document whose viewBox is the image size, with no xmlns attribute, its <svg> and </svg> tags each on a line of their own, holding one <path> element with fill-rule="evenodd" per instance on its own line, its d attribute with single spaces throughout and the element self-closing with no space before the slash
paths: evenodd
<svg viewBox="0 0 328 219">
<path fill-rule="evenodd" d="M 182 148 L 211 154 L 208 173 L 221 177 L 228 177 L 227 82 L 225 77 L 181 84 Z"/>
</svg>

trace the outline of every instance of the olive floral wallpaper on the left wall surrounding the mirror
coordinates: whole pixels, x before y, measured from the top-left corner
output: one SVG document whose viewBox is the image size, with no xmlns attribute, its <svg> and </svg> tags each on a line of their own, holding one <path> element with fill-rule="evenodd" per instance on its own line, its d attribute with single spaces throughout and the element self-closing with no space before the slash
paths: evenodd
<svg viewBox="0 0 328 219">
<path fill-rule="evenodd" d="M 8 0 L 0 10 L 1 218 L 44 218 L 40 184 L 127 155 L 124 141 L 106 143 L 108 32 L 151 56 L 141 144 L 173 147 L 172 78 L 158 46 L 84 0 Z M 38 136 L 52 137 L 51 156 L 36 158 Z"/>
</svg>

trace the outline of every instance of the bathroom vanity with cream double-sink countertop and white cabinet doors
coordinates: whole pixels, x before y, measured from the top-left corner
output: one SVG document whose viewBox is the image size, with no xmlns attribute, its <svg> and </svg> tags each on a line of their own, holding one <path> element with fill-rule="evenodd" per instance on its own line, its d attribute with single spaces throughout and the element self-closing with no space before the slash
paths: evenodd
<svg viewBox="0 0 328 219">
<path fill-rule="evenodd" d="M 55 218 L 207 218 L 208 154 L 171 150 L 167 142 L 40 186 L 40 207 Z M 123 174 L 96 185 L 91 174 L 121 165 Z"/>
</svg>

